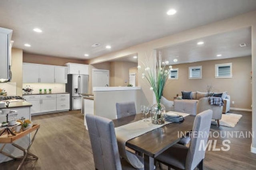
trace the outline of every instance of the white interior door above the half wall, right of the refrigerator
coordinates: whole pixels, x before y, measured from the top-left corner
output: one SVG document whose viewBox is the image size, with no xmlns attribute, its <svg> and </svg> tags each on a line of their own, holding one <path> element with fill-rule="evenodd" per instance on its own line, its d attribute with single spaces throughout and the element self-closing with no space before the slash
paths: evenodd
<svg viewBox="0 0 256 170">
<path fill-rule="evenodd" d="M 109 70 L 92 70 L 92 87 L 109 86 Z"/>
</svg>

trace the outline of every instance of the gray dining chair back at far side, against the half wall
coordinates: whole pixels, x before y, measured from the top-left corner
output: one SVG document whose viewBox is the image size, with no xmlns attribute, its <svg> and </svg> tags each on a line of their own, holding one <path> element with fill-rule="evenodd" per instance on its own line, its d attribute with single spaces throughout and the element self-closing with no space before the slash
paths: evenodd
<svg viewBox="0 0 256 170">
<path fill-rule="evenodd" d="M 122 118 L 136 114 L 134 102 L 118 102 L 116 103 L 116 116 Z"/>
</svg>

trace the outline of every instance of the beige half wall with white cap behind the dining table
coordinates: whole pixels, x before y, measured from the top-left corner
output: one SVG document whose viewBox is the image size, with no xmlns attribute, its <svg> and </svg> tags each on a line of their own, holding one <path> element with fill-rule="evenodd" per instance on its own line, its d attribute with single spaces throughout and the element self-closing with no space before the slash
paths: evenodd
<svg viewBox="0 0 256 170">
<path fill-rule="evenodd" d="M 140 112 L 141 87 L 94 87 L 94 115 L 116 119 L 116 102 L 135 102 Z"/>
</svg>

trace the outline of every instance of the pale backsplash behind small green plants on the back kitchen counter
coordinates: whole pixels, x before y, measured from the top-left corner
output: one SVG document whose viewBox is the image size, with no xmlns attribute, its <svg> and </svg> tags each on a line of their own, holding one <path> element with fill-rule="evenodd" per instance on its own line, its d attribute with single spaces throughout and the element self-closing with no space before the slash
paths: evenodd
<svg viewBox="0 0 256 170">
<path fill-rule="evenodd" d="M 30 88 L 33 89 L 32 94 L 38 94 L 39 89 L 42 89 L 42 92 L 44 93 L 44 88 L 47 89 L 47 93 L 49 93 L 49 88 L 52 89 L 52 93 L 63 93 L 66 92 L 65 90 L 65 84 L 58 84 L 58 83 L 24 83 L 22 88 L 25 88 L 26 86 L 30 86 Z"/>
</svg>

